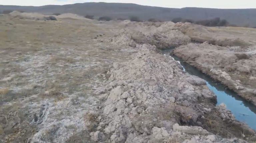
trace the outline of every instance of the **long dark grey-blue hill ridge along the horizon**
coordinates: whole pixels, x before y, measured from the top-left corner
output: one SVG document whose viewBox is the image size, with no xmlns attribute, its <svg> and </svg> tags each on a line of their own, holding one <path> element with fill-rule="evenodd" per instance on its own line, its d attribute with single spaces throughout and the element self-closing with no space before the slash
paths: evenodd
<svg viewBox="0 0 256 143">
<path fill-rule="evenodd" d="M 211 9 L 211 8 L 163 8 L 142 6 L 128 3 L 77 3 L 69 5 L 46 6 L 6 6 L 0 5 L 0 11 L 20 10 L 25 12 L 74 13 L 79 15 L 94 15 L 95 17 L 110 16 L 112 18 L 125 18 L 138 16 L 141 20 L 155 18 L 162 21 L 171 21 L 173 18 L 205 20 L 220 17 L 230 24 L 238 26 L 256 27 L 256 9 Z"/>
</svg>

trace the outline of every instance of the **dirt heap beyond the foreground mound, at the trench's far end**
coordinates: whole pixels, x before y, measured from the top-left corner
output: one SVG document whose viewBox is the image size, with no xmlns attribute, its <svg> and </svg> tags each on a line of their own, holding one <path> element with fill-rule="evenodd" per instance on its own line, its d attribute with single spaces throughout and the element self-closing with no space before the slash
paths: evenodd
<svg viewBox="0 0 256 143">
<path fill-rule="evenodd" d="M 186 45 L 190 42 L 190 38 L 180 31 L 170 30 L 173 23 L 167 22 L 161 23 L 161 25 L 160 23 L 157 23 L 156 26 L 151 23 L 131 22 L 126 25 L 128 25 L 127 27 L 129 27 L 129 29 L 125 29 L 119 35 L 106 39 L 106 41 L 119 46 L 131 47 L 136 47 L 138 44 L 151 44 L 155 45 L 158 49 L 173 48 L 180 45 Z M 140 28 L 140 30 L 130 30 L 135 25 L 143 28 Z"/>
</svg>

